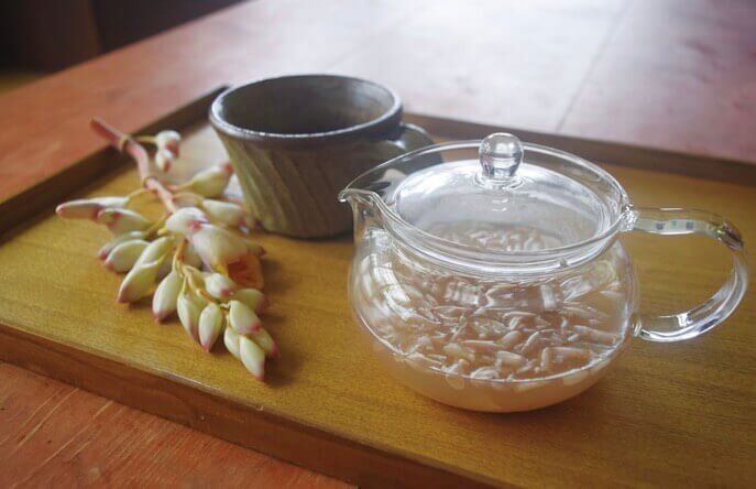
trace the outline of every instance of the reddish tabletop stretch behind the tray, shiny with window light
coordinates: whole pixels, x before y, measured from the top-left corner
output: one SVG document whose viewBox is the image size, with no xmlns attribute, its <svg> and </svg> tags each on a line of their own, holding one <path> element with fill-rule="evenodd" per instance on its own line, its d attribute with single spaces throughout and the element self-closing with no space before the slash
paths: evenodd
<svg viewBox="0 0 756 489">
<path fill-rule="evenodd" d="M 133 130 L 314 72 L 413 112 L 756 161 L 755 20 L 749 0 L 248 2 L 1 95 L 0 198 L 101 148 L 92 113 Z"/>
</svg>

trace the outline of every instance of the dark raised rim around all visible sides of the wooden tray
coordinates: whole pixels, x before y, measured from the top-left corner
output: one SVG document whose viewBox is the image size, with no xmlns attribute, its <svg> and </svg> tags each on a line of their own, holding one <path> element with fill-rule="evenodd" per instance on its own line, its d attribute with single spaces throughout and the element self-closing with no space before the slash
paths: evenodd
<svg viewBox="0 0 756 489">
<path fill-rule="evenodd" d="M 180 129 L 196 122 L 206 115 L 210 102 L 222 89 L 224 87 L 213 89 L 136 132 L 154 132 L 166 127 Z M 561 148 L 599 162 L 739 184 L 756 183 L 756 165 L 747 162 L 413 113 L 407 113 L 405 120 L 434 134 L 453 139 L 480 139 L 491 132 L 510 131 L 524 140 Z M 99 150 L 1 202 L 0 232 L 109 174 L 114 170 L 113 161 L 119 161 L 119 156 L 112 150 Z M 125 162 L 125 159 L 120 161 Z M 480 475 L 456 474 L 448 468 L 431 466 L 426 460 L 414 460 L 283 416 L 252 411 L 248 405 L 221 400 L 176 379 L 56 344 L 11 325 L 0 324 L 0 360 L 365 487 L 501 485 L 501 481 L 481 479 Z M 134 378 L 138 379 L 136 387 L 129 383 L 129 379 Z M 201 411 L 196 411 L 187 400 L 195 401 L 194 405 L 201 406 Z"/>
</svg>

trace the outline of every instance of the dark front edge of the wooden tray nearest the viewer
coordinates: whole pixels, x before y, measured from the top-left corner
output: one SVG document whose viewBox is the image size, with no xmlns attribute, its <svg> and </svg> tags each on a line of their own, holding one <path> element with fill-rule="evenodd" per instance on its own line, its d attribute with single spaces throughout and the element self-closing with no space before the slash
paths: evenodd
<svg viewBox="0 0 756 489">
<path fill-rule="evenodd" d="M 362 487 L 501 487 L 0 324 L 0 360 Z M 198 409 L 199 408 L 199 409 Z"/>
</svg>

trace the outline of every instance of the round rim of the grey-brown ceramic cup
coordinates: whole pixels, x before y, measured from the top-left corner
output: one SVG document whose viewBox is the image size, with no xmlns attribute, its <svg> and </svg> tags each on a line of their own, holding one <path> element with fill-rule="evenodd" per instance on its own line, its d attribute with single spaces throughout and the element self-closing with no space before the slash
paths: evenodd
<svg viewBox="0 0 756 489">
<path fill-rule="evenodd" d="M 392 100 L 388 107 L 382 115 L 369 121 L 349 126 L 346 128 L 322 131 L 322 132 L 302 132 L 302 133 L 283 133 L 283 132 L 267 132 L 252 128 L 244 128 L 228 121 L 223 117 L 223 105 L 232 95 L 238 95 L 243 91 L 251 91 L 262 84 L 274 84 L 277 82 L 294 82 L 300 80 L 311 83 L 314 80 L 330 80 L 349 84 L 370 85 L 376 89 L 385 91 Z M 216 130 L 231 137 L 246 141 L 254 141 L 264 146 L 306 146 L 310 144 L 324 144 L 332 142 L 348 141 L 368 135 L 385 134 L 402 122 L 402 99 L 393 89 L 363 78 L 343 76 L 343 75 L 328 75 L 328 74 L 304 74 L 304 75 L 284 75 L 277 77 L 260 78 L 246 84 L 238 85 L 226 89 L 212 101 L 209 110 L 210 123 Z"/>
</svg>

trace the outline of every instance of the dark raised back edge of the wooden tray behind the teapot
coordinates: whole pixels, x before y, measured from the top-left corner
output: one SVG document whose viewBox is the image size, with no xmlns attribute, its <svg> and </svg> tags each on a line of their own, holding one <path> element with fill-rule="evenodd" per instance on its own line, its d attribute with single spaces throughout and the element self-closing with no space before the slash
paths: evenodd
<svg viewBox="0 0 756 489">
<path fill-rule="evenodd" d="M 465 122 L 419 113 L 405 113 L 405 121 L 420 126 L 431 134 L 456 140 L 482 139 L 493 132 L 512 132 L 524 141 L 558 148 L 596 163 L 675 173 L 741 185 L 756 185 L 756 162 Z"/>
</svg>

